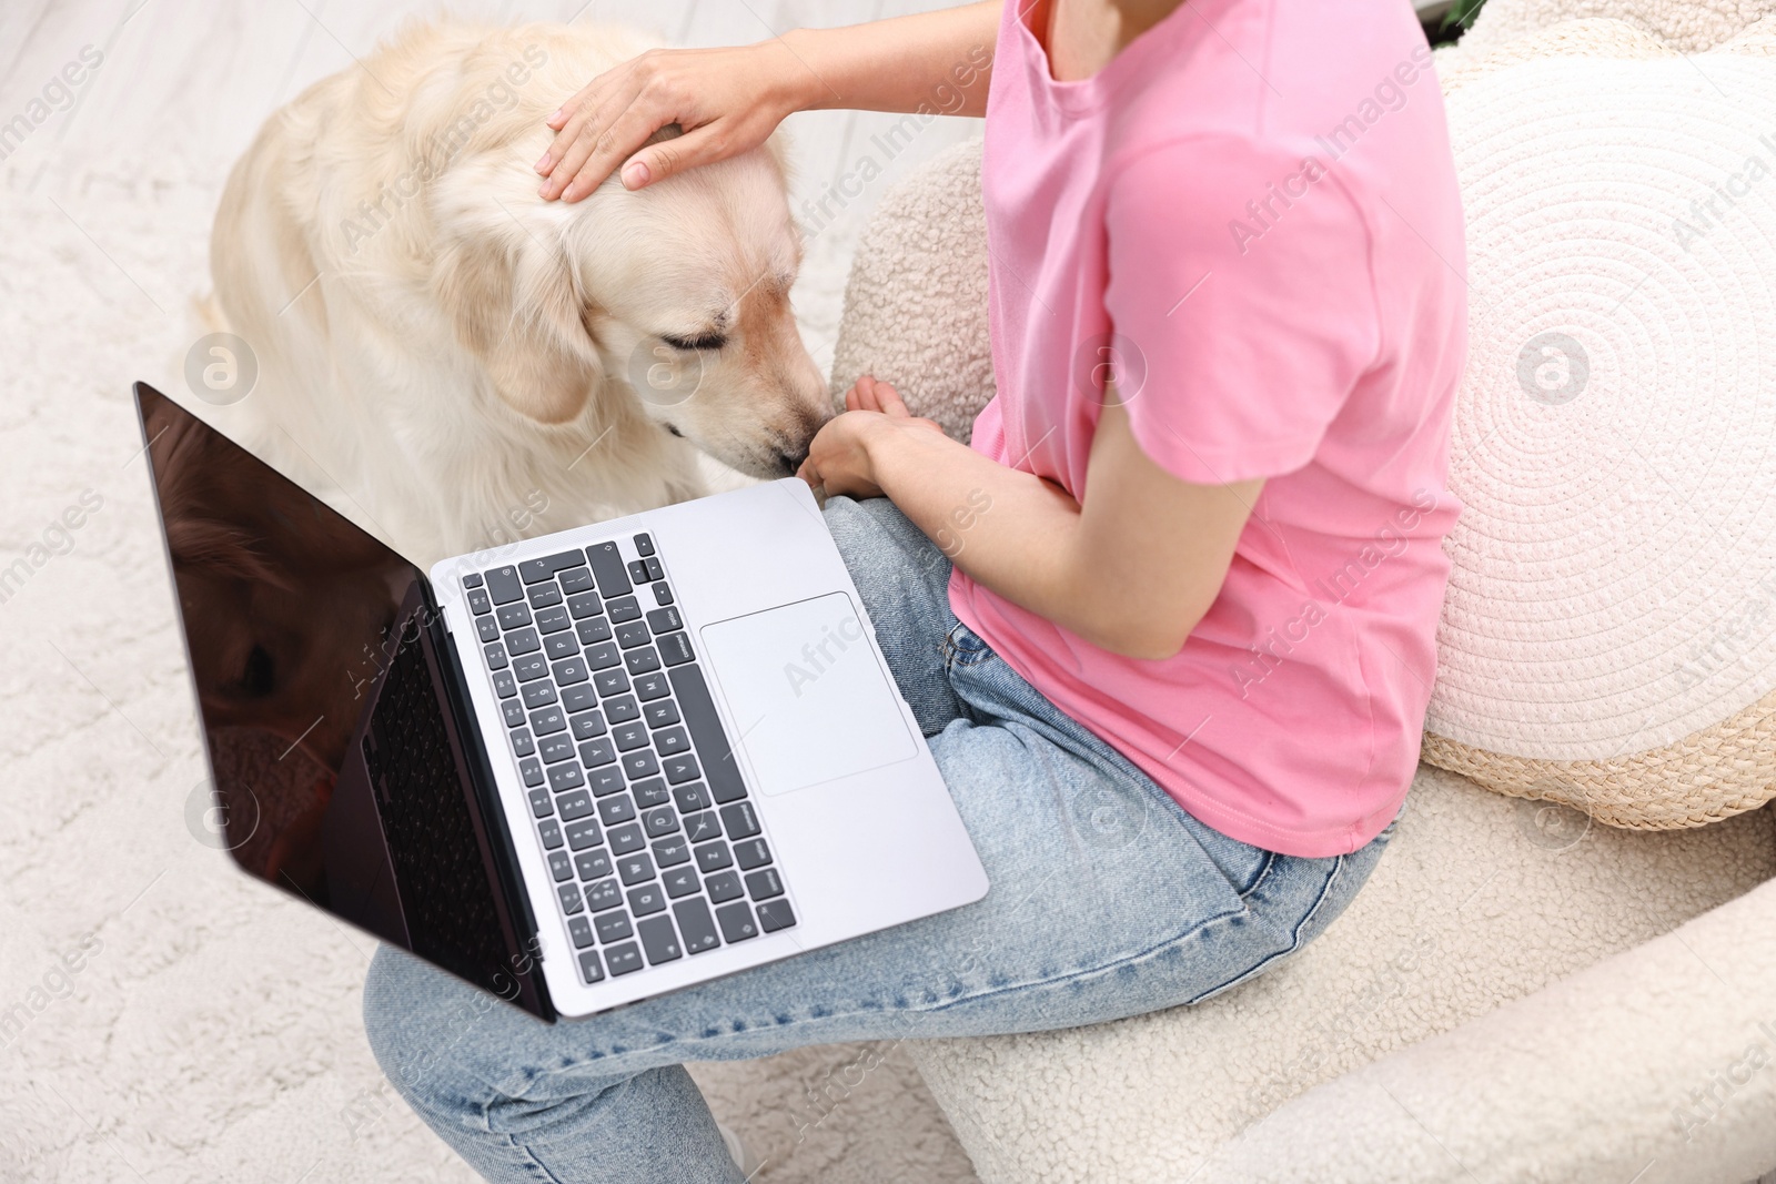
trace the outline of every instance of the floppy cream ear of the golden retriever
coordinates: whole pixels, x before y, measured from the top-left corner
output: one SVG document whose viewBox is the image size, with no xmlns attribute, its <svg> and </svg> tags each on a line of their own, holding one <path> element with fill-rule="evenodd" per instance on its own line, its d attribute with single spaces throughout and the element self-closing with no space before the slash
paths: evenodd
<svg viewBox="0 0 1776 1184">
<path fill-rule="evenodd" d="M 439 252 L 432 286 L 513 410 L 543 424 L 581 414 L 604 366 L 565 259 L 536 243 L 464 236 Z"/>
</svg>

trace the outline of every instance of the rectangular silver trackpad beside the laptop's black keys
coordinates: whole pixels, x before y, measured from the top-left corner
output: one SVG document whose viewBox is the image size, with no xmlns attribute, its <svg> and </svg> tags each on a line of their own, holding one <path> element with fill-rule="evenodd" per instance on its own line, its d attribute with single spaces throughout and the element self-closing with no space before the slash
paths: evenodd
<svg viewBox="0 0 1776 1184">
<path fill-rule="evenodd" d="M 858 609 L 831 593 L 702 630 L 758 788 L 787 793 L 918 753 Z"/>
</svg>

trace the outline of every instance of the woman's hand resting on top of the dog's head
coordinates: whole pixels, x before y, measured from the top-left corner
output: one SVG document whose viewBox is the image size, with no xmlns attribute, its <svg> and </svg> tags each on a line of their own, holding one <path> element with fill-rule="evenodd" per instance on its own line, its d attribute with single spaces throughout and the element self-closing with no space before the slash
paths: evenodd
<svg viewBox="0 0 1776 1184">
<path fill-rule="evenodd" d="M 538 193 L 575 202 L 623 160 L 623 186 L 639 190 L 764 144 L 803 101 L 785 83 L 794 60 L 778 41 L 726 50 L 648 50 L 607 69 L 549 117 L 556 138 L 536 162 Z M 684 135 L 643 147 L 666 124 Z M 630 153 L 634 153 L 630 156 Z"/>
</svg>

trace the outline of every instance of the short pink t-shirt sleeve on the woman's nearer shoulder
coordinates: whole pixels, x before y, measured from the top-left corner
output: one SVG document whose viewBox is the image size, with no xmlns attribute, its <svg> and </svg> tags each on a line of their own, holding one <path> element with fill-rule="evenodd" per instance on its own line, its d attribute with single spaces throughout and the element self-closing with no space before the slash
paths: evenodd
<svg viewBox="0 0 1776 1184">
<path fill-rule="evenodd" d="M 1105 225 L 1142 451 L 1197 485 L 1312 460 L 1378 341 L 1369 234 L 1325 158 L 1231 137 L 1147 149 L 1114 176 Z"/>
</svg>

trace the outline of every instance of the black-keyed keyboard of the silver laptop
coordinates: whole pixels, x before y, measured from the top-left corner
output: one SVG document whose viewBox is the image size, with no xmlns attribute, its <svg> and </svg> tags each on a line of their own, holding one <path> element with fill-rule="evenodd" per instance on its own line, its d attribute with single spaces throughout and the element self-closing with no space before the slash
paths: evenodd
<svg viewBox="0 0 1776 1184">
<path fill-rule="evenodd" d="M 796 925 L 648 534 L 464 577 L 584 983 Z"/>
</svg>

